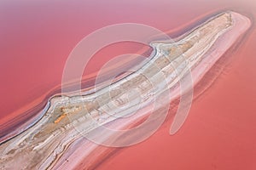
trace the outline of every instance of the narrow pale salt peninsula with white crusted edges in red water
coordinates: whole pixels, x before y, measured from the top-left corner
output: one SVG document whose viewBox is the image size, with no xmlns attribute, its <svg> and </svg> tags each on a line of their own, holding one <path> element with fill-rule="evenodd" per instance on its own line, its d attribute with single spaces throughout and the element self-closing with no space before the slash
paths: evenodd
<svg viewBox="0 0 256 170">
<path fill-rule="evenodd" d="M 251 21 L 241 14 L 218 14 L 177 42 L 152 42 L 150 45 L 156 53 L 150 61 L 131 75 L 113 82 L 111 87 L 94 94 L 50 99 L 48 111 L 36 124 L 2 141 L 0 168 L 70 169 L 82 160 L 88 165 L 93 163 L 93 157 L 90 161 L 86 159 L 96 144 L 79 142 L 83 141 L 81 133 L 90 133 L 99 125 L 114 122 L 118 116 L 133 114 L 137 105 L 141 105 L 141 116 L 146 116 L 143 108 L 166 88 L 171 89 L 171 99 L 177 98 L 180 77 L 191 71 L 195 85 L 250 26 Z M 137 94 L 129 94 L 134 88 L 141 99 L 137 99 Z M 116 126 L 122 128 L 129 123 L 131 121 L 124 121 Z"/>
</svg>

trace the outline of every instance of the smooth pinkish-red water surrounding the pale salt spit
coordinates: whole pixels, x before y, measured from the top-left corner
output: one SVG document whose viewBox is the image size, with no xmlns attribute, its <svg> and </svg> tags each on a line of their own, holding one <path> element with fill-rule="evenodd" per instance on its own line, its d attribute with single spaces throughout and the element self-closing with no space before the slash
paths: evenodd
<svg viewBox="0 0 256 170">
<path fill-rule="evenodd" d="M 161 31 L 187 26 L 218 9 L 256 17 L 252 1 L 2 1 L 0 3 L 0 122 L 37 105 L 61 84 L 68 54 L 90 32 L 136 22 Z M 181 33 L 181 32 L 180 32 Z M 196 99 L 189 118 L 174 136 L 171 120 L 150 139 L 119 150 L 99 169 L 255 169 L 256 31 L 253 29 L 230 65 Z M 113 50 L 117 50 L 113 52 Z M 84 74 L 108 59 L 139 48 L 110 48 L 98 54 Z"/>
</svg>

